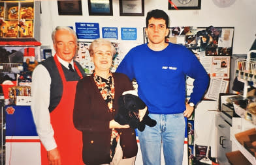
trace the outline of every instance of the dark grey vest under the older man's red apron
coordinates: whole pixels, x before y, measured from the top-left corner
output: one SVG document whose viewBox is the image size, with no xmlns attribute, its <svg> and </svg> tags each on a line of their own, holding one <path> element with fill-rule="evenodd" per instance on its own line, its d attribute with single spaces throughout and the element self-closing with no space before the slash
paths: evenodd
<svg viewBox="0 0 256 165">
<path fill-rule="evenodd" d="M 63 84 L 62 84 L 61 76 L 59 75 L 59 71 L 57 70 L 57 66 L 54 62 L 53 57 L 47 58 L 46 60 L 40 62 L 40 64 L 42 64 L 48 70 L 48 72 L 50 73 L 50 77 L 52 79 L 51 87 L 50 87 L 50 105 L 49 105 L 49 111 L 52 112 L 52 110 L 54 110 L 54 108 L 57 107 L 57 105 L 59 104 L 59 101 L 61 100 Z M 78 62 L 76 62 L 76 66 L 78 66 L 79 70 L 81 71 L 84 77 L 85 76 L 84 70 L 82 69 L 80 64 L 78 64 Z M 61 64 L 61 67 L 67 81 L 80 80 L 80 77 L 78 76 L 78 73 L 76 73 L 76 71 L 72 72 L 69 69 L 65 68 L 65 66 L 63 66 L 62 64 Z M 74 90 L 76 89 L 74 88 Z"/>
</svg>

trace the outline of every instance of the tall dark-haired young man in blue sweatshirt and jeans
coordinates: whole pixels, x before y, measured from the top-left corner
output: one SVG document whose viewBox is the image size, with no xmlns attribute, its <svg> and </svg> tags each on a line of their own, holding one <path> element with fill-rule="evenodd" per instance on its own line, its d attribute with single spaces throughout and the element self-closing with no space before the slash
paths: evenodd
<svg viewBox="0 0 256 165">
<path fill-rule="evenodd" d="M 168 32 L 168 15 L 163 10 L 148 12 L 148 44 L 131 49 L 117 70 L 136 79 L 138 95 L 148 106 L 150 118 L 157 121 L 155 127 L 146 126 L 143 132 L 138 131 L 144 165 L 161 163 L 162 143 L 165 164 L 182 164 L 184 116 L 191 116 L 209 82 L 203 66 L 189 49 L 165 42 Z M 195 79 L 188 103 L 186 75 Z"/>
</svg>

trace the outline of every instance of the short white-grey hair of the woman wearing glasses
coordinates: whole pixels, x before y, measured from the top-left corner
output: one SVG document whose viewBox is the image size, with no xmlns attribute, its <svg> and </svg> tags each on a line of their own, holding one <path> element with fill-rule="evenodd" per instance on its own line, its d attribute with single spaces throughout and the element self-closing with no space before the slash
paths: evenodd
<svg viewBox="0 0 256 165">
<path fill-rule="evenodd" d="M 109 45 L 111 47 L 111 53 L 112 55 L 116 54 L 116 48 L 112 45 L 112 43 L 108 40 L 105 40 L 103 38 L 98 38 L 91 42 L 91 45 L 89 45 L 89 55 L 93 57 L 93 53 L 96 47 L 101 47 L 102 45 Z"/>
</svg>

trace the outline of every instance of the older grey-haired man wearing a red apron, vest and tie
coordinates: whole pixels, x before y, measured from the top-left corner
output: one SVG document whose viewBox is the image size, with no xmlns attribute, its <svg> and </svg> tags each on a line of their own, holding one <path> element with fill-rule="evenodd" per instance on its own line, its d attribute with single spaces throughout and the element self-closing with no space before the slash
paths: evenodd
<svg viewBox="0 0 256 165">
<path fill-rule="evenodd" d="M 41 62 L 32 75 L 31 110 L 44 146 L 41 161 L 42 165 L 80 165 L 84 164 L 82 134 L 74 128 L 72 112 L 76 84 L 85 74 L 73 60 L 76 33 L 69 27 L 56 27 L 52 41 L 56 55 Z"/>
</svg>

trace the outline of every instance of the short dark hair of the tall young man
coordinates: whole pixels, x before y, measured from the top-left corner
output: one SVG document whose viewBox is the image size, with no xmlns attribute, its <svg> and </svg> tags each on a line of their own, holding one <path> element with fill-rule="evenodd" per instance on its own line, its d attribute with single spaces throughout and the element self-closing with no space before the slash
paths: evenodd
<svg viewBox="0 0 256 165">
<path fill-rule="evenodd" d="M 159 18 L 165 19 L 165 25 L 167 25 L 167 27 L 169 26 L 169 17 L 166 14 L 166 12 L 164 12 L 163 10 L 155 9 L 148 12 L 147 18 L 146 18 L 146 27 L 148 27 L 148 20 L 150 20 L 150 18 L 152 17 L 156 19 L 159 19 Z"/>
</svg>

